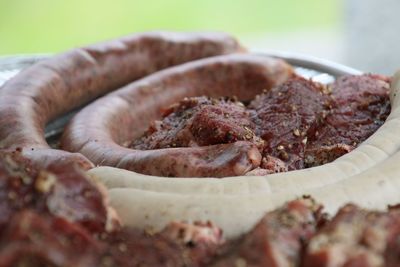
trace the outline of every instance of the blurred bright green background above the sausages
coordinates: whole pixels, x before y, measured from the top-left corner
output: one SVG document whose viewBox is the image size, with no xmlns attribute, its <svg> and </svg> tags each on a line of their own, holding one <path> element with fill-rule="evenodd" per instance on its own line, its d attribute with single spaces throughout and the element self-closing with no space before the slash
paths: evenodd
<svg viewBox="0 0 400 267">
<path fill-rule="evenodd" d="M 0 55 L 57 52 L 146 30 L 239 37 L 336 27 L 337 0 L 0 0 Z"/>
</svg>

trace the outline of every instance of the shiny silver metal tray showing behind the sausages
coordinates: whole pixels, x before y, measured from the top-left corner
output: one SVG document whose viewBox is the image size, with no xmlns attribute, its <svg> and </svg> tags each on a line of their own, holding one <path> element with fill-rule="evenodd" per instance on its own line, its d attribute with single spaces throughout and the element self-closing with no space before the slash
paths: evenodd
<svg viewBox="0 0 400 267">
<path fill-rule="evenodd" d="M 331 61 L 289 52 L 279 51 L 253 51 L 260 56 L 271 56 L 282 58 L 295 67 L 296 73 L 305 77 L 312 78 L 323 84 L 333 82 L 337 77 L 345 74 L 361 74 L 360 71 L 337 64 Z M 17 75 L 21 70 L 50 57 L 49 54 L 39 55 L 17 55 L 0 57 L 0 90 L 1 86 L 9 79 Z M 53 147 L 57 147 L 58 139 L 65 124 L 79 109 L 73 110 L 64 116 L 57 118 L 46 127 L 46 139 Z"/>
</svg>

